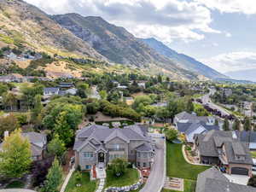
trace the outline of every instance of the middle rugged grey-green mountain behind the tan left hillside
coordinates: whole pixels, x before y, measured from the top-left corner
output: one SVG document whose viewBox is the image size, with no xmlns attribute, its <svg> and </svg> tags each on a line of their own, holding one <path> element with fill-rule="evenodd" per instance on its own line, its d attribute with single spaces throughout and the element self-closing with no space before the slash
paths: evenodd
<svg viewBox="0 0 256 192">
<path fill-rule="evenodd" d="M 197 79 L 198 74 L 178 67 L 164 55 L 135 38 L 125 28 L 114 26 L 101 17 L 78 14 L 52 15 L 74 35 L 89 43 L 109 61 L 137 66 L 154 73 L 169 73 L 176 79 Z"/>
</svg>

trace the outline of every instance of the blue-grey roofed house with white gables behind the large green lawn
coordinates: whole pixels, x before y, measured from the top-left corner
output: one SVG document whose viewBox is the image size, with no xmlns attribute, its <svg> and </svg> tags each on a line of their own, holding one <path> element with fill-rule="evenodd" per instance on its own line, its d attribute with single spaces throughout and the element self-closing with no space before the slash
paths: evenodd
<svg viewBox="0 0 256 192">
<path fill-rule="evenodd" d="M 174 125 L 177 131 L 183 133 L 187 142 L 194 143 L 195 134 L 206 133 L 207 131 L 219 130 L 219 125 L 215 125 L 214 117 L 196 116 L 187 112 L 178 113 L 174 118 Z"/>
</svg>

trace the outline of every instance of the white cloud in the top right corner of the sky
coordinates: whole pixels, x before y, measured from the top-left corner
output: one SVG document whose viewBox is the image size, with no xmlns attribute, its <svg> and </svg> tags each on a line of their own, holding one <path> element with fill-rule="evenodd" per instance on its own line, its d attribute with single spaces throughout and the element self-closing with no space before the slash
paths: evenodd
<svg viewBox="0 0 256 192">
<path fill-rule="evenodd" d="M 218 9 L 222 13 L 256 14 L 255 0 L 195 0 L 209 9 Z"/>
</svg>

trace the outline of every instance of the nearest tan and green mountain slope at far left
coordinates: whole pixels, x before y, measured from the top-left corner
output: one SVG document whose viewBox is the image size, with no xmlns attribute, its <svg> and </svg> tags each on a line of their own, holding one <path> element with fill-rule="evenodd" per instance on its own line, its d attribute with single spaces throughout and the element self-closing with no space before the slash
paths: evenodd
<svg viewBox="0 0 256 192">
<path fill-rule="evenodd" d="M 0 0 L 0 45 L 74 54 L 104 60 L 95 49 L 61 27 L 42 10 L 20 0 Z"/>
</svg>

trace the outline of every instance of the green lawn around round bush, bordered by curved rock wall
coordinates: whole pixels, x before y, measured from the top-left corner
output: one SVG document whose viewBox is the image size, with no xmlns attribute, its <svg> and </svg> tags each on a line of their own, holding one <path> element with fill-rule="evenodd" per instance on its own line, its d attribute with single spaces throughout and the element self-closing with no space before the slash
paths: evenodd
<svg viewBox="0 0 256 192">
<path fill-rule="evenodd" d="M 139 173 L 136 169 L 128 168 L 127 172 L 120 177 L 115 177 L 111 170 L 107 170 L 107 182 L 106 188 L 108 187 L 122 187 L 137 183 L 139 179 Z"/>
</svg>

